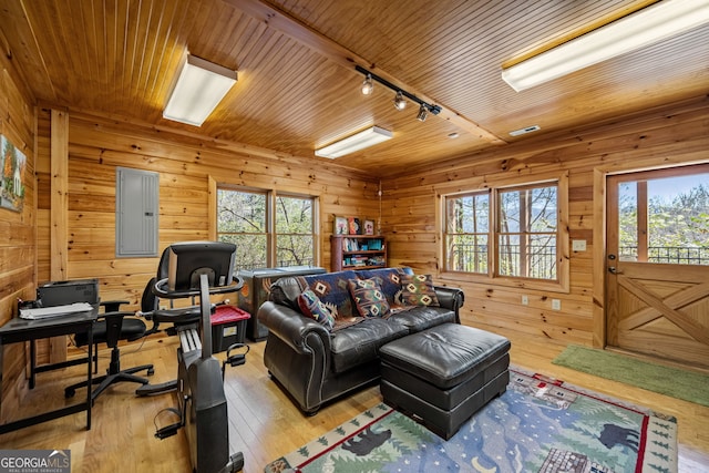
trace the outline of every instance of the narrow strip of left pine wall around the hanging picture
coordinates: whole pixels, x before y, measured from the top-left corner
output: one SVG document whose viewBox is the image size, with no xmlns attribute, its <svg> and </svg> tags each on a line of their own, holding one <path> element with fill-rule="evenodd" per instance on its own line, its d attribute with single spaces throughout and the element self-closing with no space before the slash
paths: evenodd
<svg viewBox="0 0 709 473">
<path fill-rule="evenodd" d="M 34 298 L 35 275 L 35 182 L 34 99 L 6 51 L 0 34 L 0 133 L 27 157 L 21 212 L 0 208 L 0 326 L 17 315 L 17 301 Z M 24 384 L 24 345 L 4 348 L 2 359 L 2 411 L 11 411 Z"/>
</svg>

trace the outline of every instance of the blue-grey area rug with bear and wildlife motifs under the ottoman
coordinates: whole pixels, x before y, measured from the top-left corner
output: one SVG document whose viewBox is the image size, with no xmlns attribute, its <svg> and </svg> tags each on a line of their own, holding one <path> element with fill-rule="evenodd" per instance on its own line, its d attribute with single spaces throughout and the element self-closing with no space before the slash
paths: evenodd
<svg viewBox="0 0 709 473">
<path fill-rule="evenodd" d="M 511 367 L 504 394 L 449 441 L 380 403 L 271 472 L 676 472 L 677 421 Z"/>
</svg>

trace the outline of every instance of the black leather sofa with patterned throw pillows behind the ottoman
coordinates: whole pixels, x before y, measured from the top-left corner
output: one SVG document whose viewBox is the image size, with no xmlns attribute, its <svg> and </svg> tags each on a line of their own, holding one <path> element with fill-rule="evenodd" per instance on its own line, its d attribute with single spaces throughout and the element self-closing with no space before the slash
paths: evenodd
<svg viewBox="0 0 709 473">
<path fill-rule="evenodd" d="M 357 317 L 347 280 L 374 278 L 394 307 L 401 304 L 402 274 L 412 271 L 409 268 L 346 270 L 274 282 L 269 301 L 264 302 L 257 313 L 259 322 L 269 330 L 264 363 L 301 411 L 315 414 L 323 403 L 379 380 L 379 349 L 386 343 L 442 323 L 460 323 L 463 291 L 440 286 L 433 287 L 438 307 L 407 307 L 383 318 Z M 302 315 L 298 297 L 308 288 L 336 312 L 340 327 L 328 330 Z"/>
</svg>

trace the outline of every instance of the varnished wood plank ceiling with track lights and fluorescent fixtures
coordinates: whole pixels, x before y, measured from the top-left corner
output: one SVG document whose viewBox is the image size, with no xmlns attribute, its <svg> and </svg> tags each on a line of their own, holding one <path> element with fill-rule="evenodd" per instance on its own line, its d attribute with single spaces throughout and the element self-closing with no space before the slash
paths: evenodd
<svg viewBox="0 0 709 473">
<path fill-rule="evenodd" d="M 394 175 L 709 90 L 709 25 L 524 92 L 501 64 L 647 0 L 8 0 L 6 53 L 43 105 L 94 111 L 311 160 L 378 125 L 394 138 L 338 164 Z M 197 128 L 162 117 L 182 55 L 239 80 Z M 415 120 L 369 68 L 443 106 Z M 456 133 L 458 138 L 449 135 Z M 528 135 L 527 135 L 528 136 Z"/>
</svg>

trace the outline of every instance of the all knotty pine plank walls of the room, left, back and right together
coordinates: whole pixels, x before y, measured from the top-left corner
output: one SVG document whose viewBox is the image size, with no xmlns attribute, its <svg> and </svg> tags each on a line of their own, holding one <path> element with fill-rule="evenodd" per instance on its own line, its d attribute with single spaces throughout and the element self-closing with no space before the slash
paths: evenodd
<svg viewBox="0 0 709 473">
<path fill-rule="evenodd" d="M 68 279 L 96 277 L 103 299 L 127 299 L 137 308 L 157 258 L 115 257 L 115 168 L 124 166 L 160 173 L 161 250 L 173 241 L 213 237 L 209 186 L 215 181 L 319 196 L 320 266 L 326 268 L 333 216 L 377 218 L 381 208 L 389 264 L 411 266 L 433 274 L 439 284 L 461 287 L 466 298 L 465 323 L 603 345 L 604 176 L 709 161 L 709 100 L 698 97 L 387 178 L 381 182 L 380 203 L 377 177 L 335 163 L 177 134 L 84 111 L 35 112 L 7 56 L 1 61 L 2 133 L 22 146 L 28 169 L 23 210 L 0 209 L 0 323 L 12 317 L 18 297 L 33 297 L 37 281 L 56 274 Z M 63 127 L 61 123 L 58 126 L 58 120 L 65 120 Z M 68 151 L 65 163 L 56 161 L 64 158 L 56 154 L 62 140 Z M 64 208 L 56 208 L 61 199 L 51 189 L 52 169 L 58 165 L 68 169 Z M 546 178 L 564 171 L 569 173 L 569 236 L 587 241 L 586 251 L 571 254 L 568 294 L 480 284 L 440 271 L 441 194 L 504 184 L 521 176 Z M 58 215 L 63 220 L 52 223 Z M 54 235 L 65 237 L 63 246 L 56 246 Z M 522 294 L 530 297 L 527 307 L 520 304 Z M 552 298 L 562 300 L 562 310 L 551 309 Z M 6 350 L 3 399 L 17 398 L 22 389 L 23 366 L 21 349 Z"/>
</svg>

